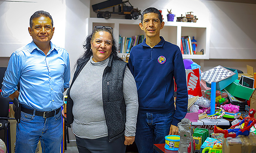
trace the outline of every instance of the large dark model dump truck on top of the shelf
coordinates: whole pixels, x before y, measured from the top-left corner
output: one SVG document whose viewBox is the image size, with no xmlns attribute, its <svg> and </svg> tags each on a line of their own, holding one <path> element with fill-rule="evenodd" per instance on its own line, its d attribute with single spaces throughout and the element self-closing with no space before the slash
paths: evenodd
<svg viewBox="0 0 256 153">
<path fill-rule="evenodd" d="M 111 14 L 119 14 L 125 15 L 125 19 L 138 19 L 139 15 L 141 15 L 140 10 L 138 8 L 133 8 L 131 3 L 129 3 L 130 6 L 126 5 L 125 3 L 129 3 L 129 1 L 107 0 L 98 4 L 94 4 L 92 7 L 93 11 L 97 13 L 97 17 L 99 18 L 109 19 Z M 118 12 L 115 12 L 115 6 L 118 6 Z M 103 9 L 111 7 L 113 7 L 113 12 L 102 11 Z"/>
</svg>

